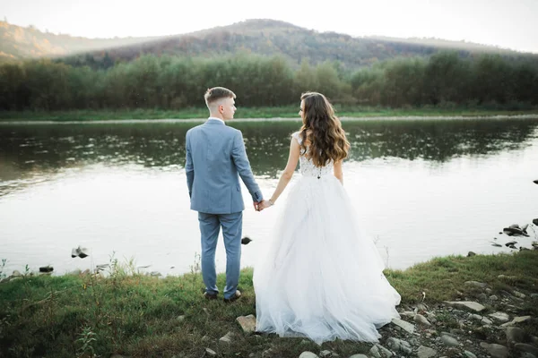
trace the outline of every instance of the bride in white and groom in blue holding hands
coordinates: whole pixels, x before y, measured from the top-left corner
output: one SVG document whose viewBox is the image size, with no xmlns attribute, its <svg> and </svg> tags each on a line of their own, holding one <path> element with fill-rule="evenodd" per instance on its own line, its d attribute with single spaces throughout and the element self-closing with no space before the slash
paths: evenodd
<svg viewBox="0 0 538 358">
<path fill-rule="evenodd" d="M 206 91 L 209 119 L 187 132 L 186 174 L 191 209 L 198 211 L 206 299 L 218 298 L 215 249 L 222 229 L 226 248 L 224 302 L 241 297 L 239 266 L 242 211 L 239 177 L 254 209 L 273 206 L 297 163 L 301 178 L 289 192 L 265 258 L 254 268 L 256 331 L 309 337 L 321 344 L 336 338 L 375 342 L 377 328 L 398 318 L 400 295 L 383 275 L 375 244 L 360 233 L 351 199 L 343 189 L 343 158 L 350 148 L 334 109 L 320 93 L 301 96 L 302 126 L 291 135 L 288 163 L 265 200 L 233 118 L 235 94 Z"/>
</svg>

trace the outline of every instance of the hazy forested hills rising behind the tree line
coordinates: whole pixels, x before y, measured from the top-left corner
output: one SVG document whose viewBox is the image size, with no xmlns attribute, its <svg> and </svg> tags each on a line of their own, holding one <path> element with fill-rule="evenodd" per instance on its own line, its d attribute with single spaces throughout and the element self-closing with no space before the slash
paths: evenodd
<svg viewBox="0 0 538 358">
<path fill-rule="evenodd" d="M 63 62 L 67 64 L 105 64 L 105 67 L 117 60 L 131 61 L 142 54 L 214 56 L 243 52 L 282 55 L 291 64 L 300 64 L 303 59 L 308 59 L 310 64 L 326 60 L 339 61 L 348 68 L 358 68 L 397 56 L 429 56 L 446 49 L 456 49 L 463 57 L 475 53 L 496 53 L 514 58 L 538 58 L 538 55 L 522 54 L 499 47 L 436 38 L 353 38 L 345 34 L 307 30 L 291 23 L 264 19 L 161 38 L 110 39 L 54 35 L 0 21 L 0 38 L 0 57 L 55 55 L 64 57 Z M 81 52 L 86 53 L 80 54 Z M 73 55 L 74 53 L 79 55 Z"/>
</svg>

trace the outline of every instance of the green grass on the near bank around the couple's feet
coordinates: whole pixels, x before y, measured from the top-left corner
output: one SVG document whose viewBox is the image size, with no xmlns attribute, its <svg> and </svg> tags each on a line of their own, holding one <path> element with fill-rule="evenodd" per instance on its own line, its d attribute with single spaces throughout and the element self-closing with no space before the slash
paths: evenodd
<svg viewBox="0 0 538 358">
<path fill-rule="evenodd" d="M 445 257 L 406 270 L 387 270 L 403 304 L 439 303 L 476 294 L 465 281 L 481 281 L 493 292 L 538 292 L 538 251 Z M 1 269 L 0 269 L 1 270 Z M 367 353 L 370 345 L 335 341 L 322 345 L 301 338 L 245 335 L 236 318 L 256 314 L 252 268 L 242 270 L 236 303 L 202 298 L 197 267 L 181 277 L 149 277 L 133 263 L 113 260 L 108 276 L 31 276 L 0 284 L 0 356 L 11 357 L 201 357 L 299 356 L 303 351 L 334 351 L 340 356 Z M 0 275 L 2 273 L 0 272 Z M 499 278 L 505 275 L 507 278 Z M 218 277 L 224 286 L 225 277 Z M 538 309 L 528 307 L 536 317 Z M 447 317 L 446 320 L 450 320 Z M 219 338 L 232 332 L 230 346 Z"/>
</svg>

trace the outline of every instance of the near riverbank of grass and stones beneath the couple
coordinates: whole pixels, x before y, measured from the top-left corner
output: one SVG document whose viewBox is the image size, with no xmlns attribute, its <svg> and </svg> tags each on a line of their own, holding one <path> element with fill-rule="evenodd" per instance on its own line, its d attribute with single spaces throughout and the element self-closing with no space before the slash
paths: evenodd
<svg viewBox="0 0 538 358">
<path fill-rule="evenodd" d="M 379 345 L 318 346 L 303 338 L 252 334 L 248 319 L 243 327 L 237 321 L 256 315 L 250 268 L 239 283 L 244 296 L 231 304 L 203 299 L 197 266 L 184 276 L 165 278 L 137 274 L 132 265 L 117 261 L 107 277 L 23 275 L 0 284 L 0 355 L 299 357 L 309 351 L 347 358 L 382 356 L 377 354 L 387 349 L 420 357 L 538 356 L 537 261 L 538 251 L 525 250 L 387 270 L 387 279 L 402 294 L 402 320 L 380 329 Z M 223 275 L 218 283 L 224 285 Z"/>
</svg>

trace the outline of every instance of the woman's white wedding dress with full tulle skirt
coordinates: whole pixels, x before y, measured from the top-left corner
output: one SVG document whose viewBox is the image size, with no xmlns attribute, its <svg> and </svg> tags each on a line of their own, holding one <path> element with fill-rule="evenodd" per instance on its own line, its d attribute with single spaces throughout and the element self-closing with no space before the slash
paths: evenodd
<svg viewBox="0 0 538 358">
<path fill-rule="evenodd" d="M 293 133 L 300 143 L 299 132 Z M 265 258 L 254 268 L 256 330 L 281 337 L 377 342 L 399 318 L 400 294 L 383 275 L 373 241 L 360 234 L 351 199 L 333 173 L 300 156 Z"/>
</svg>

